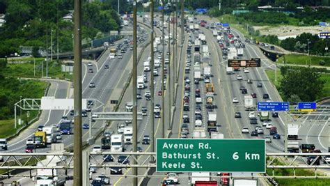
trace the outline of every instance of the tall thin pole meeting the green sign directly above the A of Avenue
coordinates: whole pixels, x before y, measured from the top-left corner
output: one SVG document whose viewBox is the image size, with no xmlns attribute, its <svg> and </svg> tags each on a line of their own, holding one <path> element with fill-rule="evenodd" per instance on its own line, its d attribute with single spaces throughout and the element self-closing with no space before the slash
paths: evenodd
<svg viewBox="0 0 330 186">
<path fill-rule="evenodd" d="M 165 93 L 165 91 L 164 91 L 164 53 L 165 53 L 165 46 L 164 46 L 164 42 L 165 42 L 165 38 L 164 38 L 164 8 L 165 8 L 165 4 L 164 4 L 164 0 L 162 0 L 162 6 L 163 6 L 163 8 L 162 8 L 162 50 L 163 50 L 163 52 L 162 52 L 162 111 L 161 111 L 161 113 L 162 113 L 162 138 L 164 138 L 165 137 L 165 118 L 164 118 L 164 112 L 165 112 L 165 107 L 164 107 L 164 105 L 165 105 L 165 100 L 164 100 L 164 93 Z M 153 82 L 152 82 L 153 83 Z"/>
</svg>

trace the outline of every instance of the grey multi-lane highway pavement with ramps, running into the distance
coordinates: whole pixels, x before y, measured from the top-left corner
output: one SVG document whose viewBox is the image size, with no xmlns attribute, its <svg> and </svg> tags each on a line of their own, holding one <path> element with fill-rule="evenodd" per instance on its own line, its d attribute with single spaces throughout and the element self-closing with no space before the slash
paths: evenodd
<svg viewBox="0 0 330 186">
<path fill-rule="evenodd" d="M 156 21 L 158 24 L 162 25 L 159 17 L 156 17 Z M 210 25 L 214 20 L 208 20 L 208 25 Z M 199 20 L 194 20 L 192 24 L 198 24 Z M 190 24 L 190 23 L 189 23 Z M 167 26 L 167 24 L 166 24 Z M 171 34 L 173 34 L 173 25 L 171 24 Z M 189 25 L 188 25 L 189 26 Z M 155 28 L 155 37 L 162 36 L 162 31 Z M 162 26 L 160 26 L 162 27 Z M 280 112 L 278 117 L 272 117 L 270 114 L 270 123 L 274 127 L 277 128 L 278 134 L 281 135 L 281 139 L 273 139 L 272 135 L 269 134 L 269 129 L 266 126 L 262 125 L 260 120 L 257 120 L 257 124 L 250 124 L 249 114 L 251 111 L 246 111 L 244 109 L 244 95 L 256 95 L 256 98 L 253 98 L 254 103 L 256 102 L 264 102 L 267 100 L 271 100 L 273 102 L 281 102 L 281 96 L 276 90 L 275 86 L 269 81 L 265 70 L 274 70 L 274 63 L 269 61 L 265 56 L 263 56 L 258 46 L 252 44 L 251 42 L 246 42 L 242 33 L 239 33 L 235 29 L 230 29 L 230 33 L 233 33 L 237 41 L 235 44 L 240 41 L 240 43 L 244 44 L 243 48 L 243 56 L 239 56 L 239 59 L 252 59 L 252 58 L 260 58 L 262 60 L 261 68 L 249 68 L 249 71 L 243 70 L 243 68 L 238 71 L 234 71 L 233 73 L 226 73 L 226 66 L 228 59 L 223 54 L 223 49 L 219 47 L 219 42 L 213 36 L 213 29 L 206 29 L 205 27 L 200 27 L 194 31 L 188 31 L 181 35 L 180 28 L 178 29 L 178 36 L 184 36 L 184 45 L 180 49 L 178 49 L 177 54 L 178 61 L 178 86 L 176 89 L 175 95 L 175 109 L 172 110 L 171 107 L 168 107 L 170 102 L 169 94 L 170 87 L 172 88 L 173 81 L 171 84 L 169 83 L 169 76 L 167 72 L 165 73 L 166 80 L 164 83 L 166 84 L 166 91 L 162 90 L 162 66 L 155 67 L 157 69 L 157 74 L 155 76 L 155 82 L 150 81 L 150 76 L 152 70 L 145 71 L 143 62 L 148 61 L 151 48 L 150 45 L 146 47 L 146 44 L 150 42 L 150 34 L 151 30 L 146 25 L 140 24 L 139 26 L 139 37 L 144 38 L 142 43 L 139 43 L 138 47 L 138 55 L 140 55 L 139 62 L 137 64 L 137 73 L 138 76 L 146 75 L 146 88 L 138 89 L 137 93 L 141 95 L 141 99 L 138 100 L 138 111 L 141 111 L 142 107 L 146 107 L 147 114 L 143 116 L 141 121 L 138 121 L 138 131 L 137 131 L 137 139 L 138 139 L 138 147 L 139 151 L 148 152 L 151 151 L 150 145 L 143 145 L 142 139 L 145 135 L 152 134 L 151 130 L 151 121 L 154 120 L 154 128 L 155 128 L 155 139 L 162 137 L 162 119 L 163 118 L 151 118 L 150 114 L 154 111 L 154 106 L 159 104 L 161 106 L 161 111 L 164 112 L 164 125 L 165 125 L 165 138 L 192 138 L 193 131 L 196 127 L 196 120 L 201 120 L 202 124 L 200 127 L 204 128 L 207 131 L 207 115 L 210 112 L 215 112 L 217 114 L 217 131 L 221 132 L 224 135 L 225 139 L 265 139 L 266 137 L 270 137 L 272 139 L 271 143 L 267 143 L 267 153 L 278 153 L 284 151 L 284 134 L 285 127 L 288 123 L 299 123 L 299 144 L 315 144 L 316 149 L 322 150 L 322 152 L 326 152 L 329 147 L 329 124 L 327 114 L 329 114 L 329 106 L 322 107 L 322 111 L 318 111 L 317 113 L 313 113 L 312 116 L 302 117 L 300 122 L 292 121 L 292 117 L 286 112 Z M 220 29 L 219 29 L 220 30 Z M 222 36 L 224 38 L 224 42 L 228 41 L 228 37 L 224 36 L 224 29 L 221 29 Z M 187 34 L 186 34 L 187 33 Z M 201 56 L 200 63 L 194 63 L 196 61 L 194 56 L 194 47 L 198 40 L 198 35 L 203 33 L 205 36 L 205 41 L 207 43 L 207 47 L 210 52 L 210 56 L 204 58 Z M 168 36 L 168 29 L 164 29 L 165 36 Z M 126 37 L 125 39 L 132 40 L 132 37 Z M 199 38 L 201 40 L 201 38 Z M 178 38 L 178 41 L 180 38 Z M 153 40 L 151 40 L 153 42 Z M 164 51 L 164 59 L 171 59 L 171 68 L 173 69 L 173 65 L 175 65 L 172 61 L 173 55 L 173 47 L 171 45 L 173 39 L 168 39 L 168 43 L 164 45 L 164 49 L 162 45 L 158 45 L 158 52 L 155 52 L 155 59 L 162 59 L 162 55 L 160 52 Z M 123 40 L 119 40 L 115 43 L 116 47 L 119 44 L 123 44 Z M 227 47 L 235 47 L 234 43 L 230 43 Z M 126 44 L 123 44 L 126 45 Z M 130 46 L 129 44 L 127 44 Z M 171 45 L 171 50 L 168 51 L 168 45 Z M 187 54 L 187 50 L 190 49 L 191 54 Z M 117 53 L 119 54 L 120 51 Z M 123 58 L 118 59 L 109 59 L 110 49 L 107 49 L 104 54 L 95 61 L 94 63 L 84 63 L 83 65 L 83 98 L 86 99 L 95 99 L 103 104 L 103 107 L 99 109 L 94 109 L 93 112 L 97 111 L 111 111 L 111 105 L 109 104 L 109 100 L 118 100 L 120 98 L 121 90 L 125 87 L 125 84 L 128 82 L 128 77 L 132 72 L 132 50 L 127 47 L 127 51 L 123 52 Z M 169 65 L 164 65 L 164 68 L 170 68 Z M 199 65 L 202 72 L 204 68 L 211 68 L 211 77 L 210 83 L 214 85 L 214 104 L 217 105 L 214 109 L 206 109 L 205 104 L 205 77 L 202 77 L 200 80 L 195 82 L 194 72 L 196 70 L 196 65 Z M 92 69 L 92 70 L 91 70 Z M 189 69 L 189 70 L 188 70 Z M 93 72 L 91 72 L 93 71 Z M 168 71 L 168 70 L 167 70 Z M 202 73 L 203 74 L 203 73 Z M 155 73 L 154 73 L 155 75 Z M 237 77 L 241 76 L 242 79 L 238 79 Z M 173 77 L 173 71 L 171 72 L 171 77 Z M 132 79 L 131 79 L 132 80 Z M 249 81 L 248 81 L 249 80 Z M 64 81 L 56 81 L 49 80 L 51 82 L 51 86 L 49 88 L 49 92 L 47 95 L 55 96 L 56 98 L 72 98 L 73 90 L 71 88 L 70 82 Z M 251 83 L 250 83 L 251 82 Z M 95 88 L 91 88 L 89 85 L 91 83 L 95 84 Z M 150 84 L 155 85 L 155 102 L 146 99 L 146 91 L 150 91 Z M 261 84 L 262 86 L 257 86 Z M 247 93 L 242 93 L 242 87 L 246 88 Z M 123 93 L 123 99 L 120 102 L 118 107 L 118 111 L 126 110 L 126 103 L 132 102 L 133 94 L 132 94 L 132 81 L 130 82 L 127 90 Z M 173 88 L 171 93 L 173 93 Z M 162 94 L 164 94 L 165 104 L 162 105 Z M 263 95 L 269 95 L 269 98 L 264 98 Z M 196 98 L 202 98 L 201 102 L 196 102 Z M 238 102 L 233 102 L 233 99 L 237 98 Z M 187 101 L 188 100 L 188 101 Z M 184 109 L 184 102 L 189 102 L 189 109 Z M 329 102 L 322 102 L 324 105 L 329 105 Z M 173 111 L 173 112 L 172 112 Z M 241 117 L 235 117 L 235 113 L 239 112 Z M 256 116 L 258 116 L 258 112 L 253 111 Z M 320 115 L 320 114 L 323 114 Z M 37 130 L 38 125 L 52 125 L 57 124 L 61 120 L 61 116 L 68 116 L 69 119 L 72 119 L 69 111 L 42 111 L 40 115 L 40 119 L 38 122 L 31 125 L 28 129 L 24 130 L 19 137 L 13 139 L 8 144 L 9 152 L 24 152 L 24 148 L 26 145 L 26 139 L 31 138 L 33 136 L 33 132 Z M 161 115 L 162 116 L 162 115 Z M 171 121 L 169 120 L 170 116 L 173 116 Z M 184 122 L 183 118 L 189 118 L 189 122 L 187 120 Z M 258 118 L 258 117 L 257 117 Z M 88 123 L 88 117 L 83 119 L 83 123 Z M 125 126 L 132 125 L 131 123 L 125 123 L 125 121 L 112 121 L 109 126 L 105 125 L 105 121 L 96 121 L 89 127 L 92 128 L 92 136 L 94 137 L 97 132 L 99 132 L 102 128 L 105 128 L 106 131 L 110 131 L 112 133 L 118 133 L 118 126 L 120 124 L 124 124 Z M 171 125 L 171 132 L 167 130 Z M 187 136 L 183 131 L 183 127 L 187 125 L 187 130 L 189 134 Z M 256 130 L 256 126 L 260 126 L 264 130 L 264 134 L 258 134 L 257 137 L 252 137 L 251 132 Z M 199 126 L 198 126 L 199 127 Z M 249 130 L 249 134 L 242 134 L 242 128 L 247 127 Z M 88 139 L 88 131 L 84 129 L 84 141 Z M 207 138 L 210 138 L 210 134 L 207 132 Z M 63 135 L 62 143 L 68 147 L 72 146 L 73 135 Z M 89 146 L 85 150 L 91 151 L 93 150 L 93 146 L 101 145 L 100 138 L 95 139 L 95 144 Z M 38 149 L 38 152 L 49 151 L 49 148 Z M 125 145 L 125 151 L 131 151 L 132 145 Z M 110 151 L 110 150 L 104 150 Z M 97 157 L 98 160 L 102 160 L 101 156 Z M 140 157 L 139 162 L 143 162 L 143 158 Z M 128 157 L 130 162 L 133 161 L 132 157 Z M 118 156 L 113 156 L 113 162 L 107 162 L 107 164 L 117 164 Z M 139 169 L 139 175 L 143 175 L 146 173 L 146 169 Z M 109 174 L 109 168 L 100 168 L 96 169 L 95 173 L 91 173 L 90 178 L 93 180 L 100 174 Z M 124 175 L 132 174 L 132 169 L 123 169 Z M 153 173 L 153 175 L 161 176 L 161 178 L 150 178 L 148 181 L 148 185 L 159 185 L 166 178 L 164 173 Z M 189 176 L 189 173 L 183 173 L 183 176 Z M 212 176 L 217 176 L 217 173 L 212 173 Z M 12 180 L 18 180 L 17 178 L 5 180 L 6 183 L 10 183 Z M 32 184 L 32 180 L 29 178 L 19 179 L 21 182 L 26 185 Z M 212 178 L 212 180 L 217 180 L 218 183 L 221 182 L 219 178 Z M 139 178 L 141 181 L 141 178 Z M 263 180 L 260 180 L 262 183 Z M 128 185 L 132 183 L 132 178 L 111 177 L 112 185 Z M 188 178 L 180 178 L 180 185 L 189 185 L 191 180 Z M 71 183 L 70 183 L 71 184 Z M 70 185 L 68 183 L 68 185 Z"/>
</svg>

